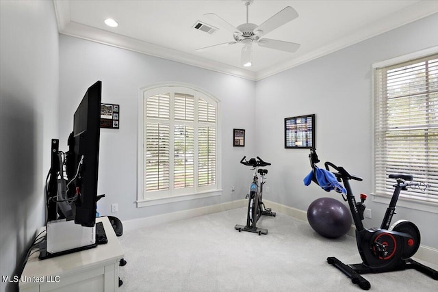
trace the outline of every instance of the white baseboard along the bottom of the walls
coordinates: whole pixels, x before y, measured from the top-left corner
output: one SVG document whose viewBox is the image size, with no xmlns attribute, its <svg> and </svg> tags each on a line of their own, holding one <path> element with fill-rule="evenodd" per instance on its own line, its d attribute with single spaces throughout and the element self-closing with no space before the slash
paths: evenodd
<svg viewBox="0 0 438 292">
<path fill-rule="evenodd" d="M 293 207 L 285 206 L 276 202 L 269 200 L 263 200 L 263 202 L 271 208 L 273 211 L 289 215 L 298 220 L 307 222 L 307 212 Z M 231 202 L 225 202 L 222 204 L 216 204 L 196 209 L 188 209 L 173 213 L 167 213 L 163 215 L 156 215 L 151 217 L 143 217 L 134 220 L 123 221 L 124 230 L 135 230 L 138 228 L 144 228 L 149 226 L 157 226 L 159 224 L 164 224 L 168 222 L 174 222 L 178 220 L 184 220 L 192 217 L 197 217 L 201 215 L 207 215 L 211 213 L 218 213 L 222 211 L 227 211 L 231 209 L 237 209 L 241 207 L 246 207 L 248 204 L 247 200 L 235 200 Z M 347 235 L 355 237 L 355 226 L 352 225 Z M 421 261 L 428 261 L 438 265 L 438 250 L 435 248 L 430 248 L 426 245 L 420 245 L 420 248 L 415 253 L 415 258 Z"/>
</svg>

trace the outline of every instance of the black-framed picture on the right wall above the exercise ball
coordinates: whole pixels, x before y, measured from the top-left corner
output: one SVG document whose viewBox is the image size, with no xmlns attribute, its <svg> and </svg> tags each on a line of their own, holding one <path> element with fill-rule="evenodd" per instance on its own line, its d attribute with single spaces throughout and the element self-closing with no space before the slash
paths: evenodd
<svg viewBox="0 0 438 292">
<path fill-rule="evenodd" d="M 285 118 L 285 148 L 315 147 L 315 115 Z"/>
</svg>

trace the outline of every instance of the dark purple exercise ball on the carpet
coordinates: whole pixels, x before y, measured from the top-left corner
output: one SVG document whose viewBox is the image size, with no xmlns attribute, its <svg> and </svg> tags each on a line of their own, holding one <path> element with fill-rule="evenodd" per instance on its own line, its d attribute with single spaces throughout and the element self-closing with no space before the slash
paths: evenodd
<svg viewBox="0 0 438 292">
<path fill-rule="evenodd" d="M 307 220 L 313 230 L 327 238 L 345 235 L 351 227 L 351 215 L 342 202 L 318 198 L 307 209 Z"/>
</svg>

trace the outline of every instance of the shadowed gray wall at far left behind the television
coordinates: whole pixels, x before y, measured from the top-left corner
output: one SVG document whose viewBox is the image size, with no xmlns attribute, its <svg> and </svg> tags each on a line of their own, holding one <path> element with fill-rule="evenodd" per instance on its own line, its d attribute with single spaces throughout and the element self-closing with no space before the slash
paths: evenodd
<svg viewBox="0 0 438 292">
<path fill-rule="evenodd" d="M 0 275 L 44 225 L 44 181 L 57 137 L 58 31 L 52 1 L 0 1 Z M 16 284 L 0 283 L 0 291 Z"/>
</svg>

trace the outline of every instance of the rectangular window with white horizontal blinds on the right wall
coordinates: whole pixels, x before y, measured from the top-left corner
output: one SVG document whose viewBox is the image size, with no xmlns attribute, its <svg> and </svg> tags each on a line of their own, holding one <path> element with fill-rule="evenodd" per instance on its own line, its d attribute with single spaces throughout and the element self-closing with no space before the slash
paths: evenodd
<svg viewBox="0 0 438 292">
<path fill-rule="evenodd" d="M 400 198 L 438 206 L 438 54 L 374 66 L 374 173 L 376 195 L 412 174 L 420 187 Z"/>
</svg>

